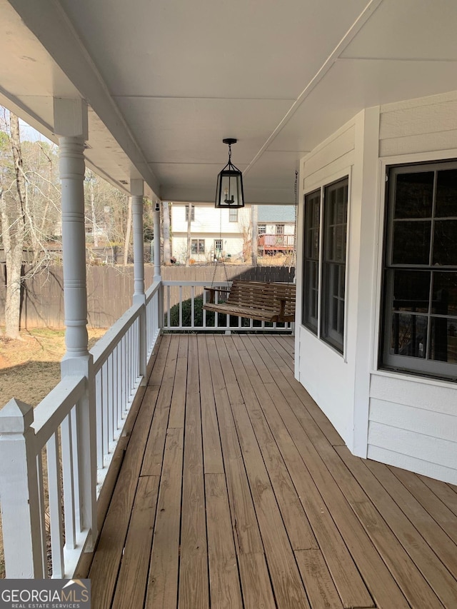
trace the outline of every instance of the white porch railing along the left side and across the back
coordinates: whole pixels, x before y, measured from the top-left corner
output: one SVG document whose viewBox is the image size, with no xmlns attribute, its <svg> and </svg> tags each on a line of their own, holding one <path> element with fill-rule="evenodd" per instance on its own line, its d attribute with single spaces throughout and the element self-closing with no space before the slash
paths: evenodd
<svg viewBox="0 0 457 609">
<path fill-rule="evenodd" d="M 71 578 L 96 542 L 96 500 L 136 392 L 165 331 L 291 332 L 201 310 L 206 282 L 154 283 L 36 408 L 0 411 L 0 500 L 7 578 Z M 218 283 L 229 286 L 229 282 Z M 233 324 L 233 318 L 232 318 Z M 45 460 L 46 457 L 46 460 Z"/>
</svg>

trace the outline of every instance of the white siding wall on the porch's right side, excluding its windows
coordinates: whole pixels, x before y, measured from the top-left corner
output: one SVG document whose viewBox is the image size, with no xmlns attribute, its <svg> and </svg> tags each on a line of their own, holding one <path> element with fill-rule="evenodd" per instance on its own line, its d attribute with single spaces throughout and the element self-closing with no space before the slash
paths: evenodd
<svg viewBox="0 0 457 609">
<path fill-rule="evenodd" d="M 457 158 L 457 92 L 366 109 L 301 161 L 303 194 L 349 175 L 344 357 L 301 325 L 296 376 L 359 456 L 457 484 L 455 383 L 378 370 L 386 165 Z"/>
</svg>

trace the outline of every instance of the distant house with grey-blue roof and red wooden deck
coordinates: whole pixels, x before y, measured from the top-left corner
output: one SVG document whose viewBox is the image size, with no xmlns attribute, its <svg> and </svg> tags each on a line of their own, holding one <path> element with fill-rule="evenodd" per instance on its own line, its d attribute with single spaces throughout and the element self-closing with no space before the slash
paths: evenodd
<svg viewBox="0 0 457 609">
<path fill-rule="evenodd" d="M 258 206 L 258 254 L 290 253 L 295 248 L 296 208 L 293 205 Z"/>
</svg>

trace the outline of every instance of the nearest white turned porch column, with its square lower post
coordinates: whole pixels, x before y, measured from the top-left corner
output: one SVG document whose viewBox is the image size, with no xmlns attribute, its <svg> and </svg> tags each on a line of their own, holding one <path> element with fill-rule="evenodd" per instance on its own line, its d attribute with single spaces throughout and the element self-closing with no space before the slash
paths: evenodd
<svg viewBox="0 0 457 609">
<path fill-rule="evenodd" d="M 84 226 L 84 142 L 88 139 L 87 105 L 82 99 L 54 99 L 54 132 L 59 136 L 62 189 L 62 250 L 66 353 L 61 376 L 82 374 L 86 395 L 78 408 L 78 459 L 81 528 L 96 530 L 96 410 L 93 358 L 88 350 L 86 235 Z"/>
</svg>

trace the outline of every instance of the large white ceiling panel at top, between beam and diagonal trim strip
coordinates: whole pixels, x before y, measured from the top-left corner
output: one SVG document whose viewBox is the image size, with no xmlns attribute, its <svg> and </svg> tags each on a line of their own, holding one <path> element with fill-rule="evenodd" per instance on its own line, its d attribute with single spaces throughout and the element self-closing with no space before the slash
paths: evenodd
<svg viewBox="0 0 457 609">
<path fill-rule="evenodd" d="M 61 4 L 115 96 L 295 99 L 367 0 Z"/>
</svg>

